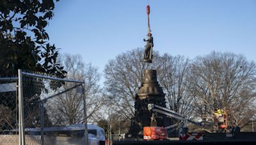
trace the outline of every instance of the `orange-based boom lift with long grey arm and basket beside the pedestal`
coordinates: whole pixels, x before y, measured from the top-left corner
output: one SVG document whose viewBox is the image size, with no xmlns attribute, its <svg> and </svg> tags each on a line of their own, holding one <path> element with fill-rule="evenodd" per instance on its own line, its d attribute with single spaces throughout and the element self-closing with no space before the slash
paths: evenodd
<svg viewBox="0 0 256 145">
<path fill-rule="evenodd" d="M 155 104 L 148 104 L 148 110 L 152 111 L 152 118 L 151 118 L 151 127 L 144 127 L 143 128 L 143 139 L 145 140 L 159 140 L 159 139 L 167 139 L 167 129 L 177 127 L 179 125 L 179 139 L 180 140 L 202 140 L 202 134 L 200 133 L 194 133 L 194 134 L 188 134 L 188 123 L 193 123 L 194 125 L 198 127 L 212 127 L 216 126 L 220 129 L 227 128 L 227 113 L 225 111 L 217 110 L 218 112 L 214 112 L 214 122 L 196 122 L 193 120 L 189 120 L 187 116 L 177 113 L 175 111 L 172 111 L 170 109 L 167 109 L 165 107 L 157 106 Z M 161 113 L 165 114 L 168 117 L 176 118 L 178 120 L 181 120 L 179 124 L 174 124 L 169 127 L 156 127 L 154 114 L 155 113 Z M 153 123 L 152 123 L 153 122 Z M 161 136 L 162 135 L 162 136 Z"/>
</svg>

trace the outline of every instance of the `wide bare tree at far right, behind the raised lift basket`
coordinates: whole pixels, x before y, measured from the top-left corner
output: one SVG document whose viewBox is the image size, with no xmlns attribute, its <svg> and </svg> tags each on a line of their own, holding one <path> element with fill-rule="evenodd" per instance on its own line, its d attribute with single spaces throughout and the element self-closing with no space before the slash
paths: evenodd
<svg viewBox="0 0 256 145">
<path fill-rule="evenodd" d="M 191 64 L 188 90 L 195 116 L 206 121 L 216 108 L 229 114 L 230 123 L 243 127 L 255 114 L 255 63 L 243 55 L 212 52 Z"/>
</svg>

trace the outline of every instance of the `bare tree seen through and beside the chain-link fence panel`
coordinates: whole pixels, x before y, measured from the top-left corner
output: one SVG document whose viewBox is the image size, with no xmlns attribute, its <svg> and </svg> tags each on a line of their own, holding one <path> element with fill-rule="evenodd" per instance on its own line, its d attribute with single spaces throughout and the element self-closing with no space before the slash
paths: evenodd
<svg viewBox="0 0 256 145">
<path fill-rule="evenodd" d="M 65 54 L 60 57 L 60 61 L 65 66 L 68 79 L 84 79 L 88 121 L 95 121 L 97 111 L 104 103 L 99 86 L 100 74 L 98 69 L 92 64 L 84 65 L 81 55 Z M 74 83 L 65 83 L 64 87 L 67 89 L 72 86 Z M 49 118 L 55 125 L 72 125 L 83 122 L 83 95 L 77 90 L 63 93 L 60 97 L 48 102 Z"/>
</svg>

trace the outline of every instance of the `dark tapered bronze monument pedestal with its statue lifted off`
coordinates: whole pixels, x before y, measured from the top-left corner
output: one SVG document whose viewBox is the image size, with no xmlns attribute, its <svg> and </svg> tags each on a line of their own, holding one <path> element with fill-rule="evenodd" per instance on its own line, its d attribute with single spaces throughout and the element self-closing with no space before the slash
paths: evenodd
<svg viewBox="0 0 256 145">
<path fill-rule="evenodd" d="M 131 127 L 126 138 L 142 140 L 143 127 L 150 127 L 152 112 L 148 111 L 148 104 L 156 104 L 166 107 L 164 93 L 157 82 L 156 70 L 144 70 L 143 83 L 136 94 L 134 109 L 135 116 L 131 121 Z M 170 118 L 163 114 L 156 115 L 157 127 L 170 125 Z"/>
</svg>

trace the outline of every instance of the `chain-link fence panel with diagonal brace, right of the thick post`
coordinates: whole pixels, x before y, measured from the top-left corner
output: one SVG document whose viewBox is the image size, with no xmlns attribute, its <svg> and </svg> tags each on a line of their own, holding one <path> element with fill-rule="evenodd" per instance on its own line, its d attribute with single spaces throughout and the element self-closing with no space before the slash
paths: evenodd
<svg viewBox="0 0 256 145">
<path fill-rule="evenodd" d="M 76 128 L 86 124 L 84 81 L 38 72 L 20 76 L 26 144 L 85 144 L 84 130 Z"/>
</svg>

